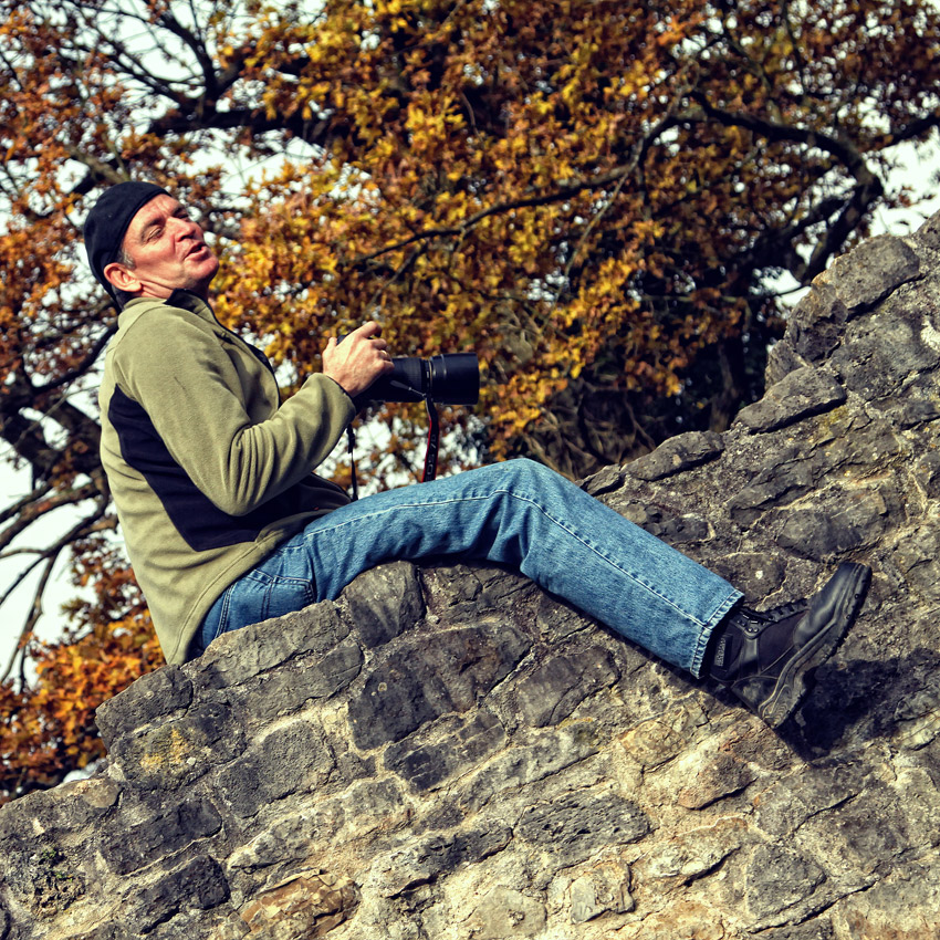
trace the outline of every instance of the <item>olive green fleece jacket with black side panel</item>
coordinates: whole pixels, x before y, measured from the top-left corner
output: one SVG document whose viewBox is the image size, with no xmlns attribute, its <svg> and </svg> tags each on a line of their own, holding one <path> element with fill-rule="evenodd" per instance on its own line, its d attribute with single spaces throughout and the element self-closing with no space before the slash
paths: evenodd
<svg viewBox="0 0 940 940">
<path fill-rule="evenodd" d="M 349 501 L 312 470 L 355 408 L 324 375 L 281 404 L 263 354 L 186 291 L 127 304 L 100 404 L 130 564 L 167 661 L 182 662 L 226 587 Z"/>
</svg>

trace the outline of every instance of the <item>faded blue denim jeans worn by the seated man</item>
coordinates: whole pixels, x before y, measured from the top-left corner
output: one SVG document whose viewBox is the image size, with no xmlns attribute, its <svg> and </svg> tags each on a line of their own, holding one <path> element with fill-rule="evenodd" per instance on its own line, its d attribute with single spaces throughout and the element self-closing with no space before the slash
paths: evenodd
<svg viewBox="0 0 940 940">
<path fill-rule="evenodd" d="M 191 654 L 226 630 L 333 599 L 382 562 L 431 556 L 518 568 L 693 676 L 712 629 L 741 597 L 564 477 L 510 460 L 365 497 L 314 520 L 222 593 Z"/>
</svg>

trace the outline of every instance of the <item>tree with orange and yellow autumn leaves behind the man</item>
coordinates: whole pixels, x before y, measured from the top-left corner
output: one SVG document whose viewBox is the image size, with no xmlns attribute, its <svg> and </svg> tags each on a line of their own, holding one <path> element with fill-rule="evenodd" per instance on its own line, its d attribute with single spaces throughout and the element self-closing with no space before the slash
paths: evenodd
<svg viewBox="0 0 940 940">
<path fill-rule="evenodd" d="M 0 696 L 7 796 L 100 754 L 94 707 L 160 662 L 97 458 L 116 312 L 80 233 L 104 187 L 196 210 L 215 309 L 288 394 L 377 318 L 399 354 L 480 356 L 449 466 L 579 477 L 753 400 L 772 279 L 808 283 L 905 205 L 899 147 L 940 121 L 926 0 L 0 2 L 0 436 L 32 480 L 0 557 L 38 579 Z M 412 470 L 422 421 L 386 409 L 361 474 Z M 41 645 L 66 555 L 84 593 Z"/>
</svg>

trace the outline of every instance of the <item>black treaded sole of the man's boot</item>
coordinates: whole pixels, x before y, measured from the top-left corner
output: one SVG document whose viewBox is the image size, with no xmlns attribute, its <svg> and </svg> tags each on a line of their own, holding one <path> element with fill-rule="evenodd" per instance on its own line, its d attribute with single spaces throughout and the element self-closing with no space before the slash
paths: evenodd
<svg viewBox="0 0 940 940">
<path fill-rule="evenodd" d="M 773 690 L 756 709 L 771 728 L 783 724 L 803 700 L 810 671 L 835 652 L 855 623 L 870 583 L 869 567 L 844 562 L 816 598 L 811 600 L 807 616 L 819 619 L 821 624 L 812 638 L 786 664 Z"/>
</svg>

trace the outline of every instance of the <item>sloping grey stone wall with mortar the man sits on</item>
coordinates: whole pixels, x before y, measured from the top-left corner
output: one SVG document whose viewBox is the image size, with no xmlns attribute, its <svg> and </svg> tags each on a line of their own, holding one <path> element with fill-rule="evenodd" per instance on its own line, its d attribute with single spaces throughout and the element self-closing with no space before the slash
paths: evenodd
<svg viewBox="0 0 940 940">
<path fill-rule="evenodd" d="M 586 489 L 758 605 L 875 579 L 779 732 L 524 578 L 399 563 L 104 706 L 0 812 L 0 940 L 940 937 L 940 217 L 770 387 Z M 717 694 L 716 694 L 717 692 Z"/>
</svg>

